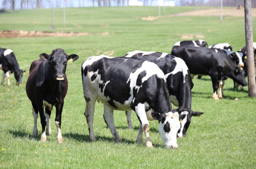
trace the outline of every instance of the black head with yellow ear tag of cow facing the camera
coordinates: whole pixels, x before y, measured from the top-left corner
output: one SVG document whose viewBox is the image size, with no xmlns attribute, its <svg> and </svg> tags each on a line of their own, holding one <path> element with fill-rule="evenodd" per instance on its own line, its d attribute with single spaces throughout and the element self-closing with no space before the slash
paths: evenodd
<svg viewBox="0 0 256 169">
<path fill-rule="evenodd" d="M 54 49 L 50 55 L 40 54 L 40 58 L 50 62 L 51 75 L 54 79 L 62 81 L 65 78 L 67 62 L 74 62 L 79 57 L 76 54 L 67 55 L 63 49 Z"/>
</svg>

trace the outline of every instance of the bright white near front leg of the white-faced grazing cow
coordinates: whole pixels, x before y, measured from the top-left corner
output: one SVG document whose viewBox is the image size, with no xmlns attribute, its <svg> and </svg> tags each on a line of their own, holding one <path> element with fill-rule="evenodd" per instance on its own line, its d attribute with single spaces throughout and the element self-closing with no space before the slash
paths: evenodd
<svg viewBox="0 0 256 169">
<path fill-rule="evenodd" d="M 143 130 L 145 132 L 145 142 L 147 147 L 153 147 L 152 142 L 149 138 L 149 122 L 147 119 L 147 115 L 145 112 L 145 105 L 139 103 L 137 106 L 135 106 L 135 112 L 138 116 L 138 118 L 141 121 L 141 125 L 143 127 Z"/>
</svg>

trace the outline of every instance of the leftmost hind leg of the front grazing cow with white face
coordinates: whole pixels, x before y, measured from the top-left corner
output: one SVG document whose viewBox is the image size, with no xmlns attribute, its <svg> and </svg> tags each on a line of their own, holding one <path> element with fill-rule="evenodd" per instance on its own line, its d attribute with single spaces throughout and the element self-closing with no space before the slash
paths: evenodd
<svg viewBox="0 0 256 169">
<path fill-rule="evenodd" d="M 96 137 L 93 132 L 93 115 L 94 115 L 95 101 L 97 96 L 92 94 L 87 94 L 87 95 L 90 95 L 91 97 L 85 96 L 86 107 L 85 107 L 84 115 L 86 117 L 88 129 L 89 129 L 89 139 L 90 141 L 96 141 Z"/>
</svg>

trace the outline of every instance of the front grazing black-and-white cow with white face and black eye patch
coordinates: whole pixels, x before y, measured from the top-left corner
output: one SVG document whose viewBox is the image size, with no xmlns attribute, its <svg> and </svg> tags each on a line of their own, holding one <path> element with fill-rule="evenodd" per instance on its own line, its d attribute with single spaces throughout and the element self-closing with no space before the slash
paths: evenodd
<svg viewBox="0 0 256 169">
<path fill-rule="evenodd" d="M 142 142 L 144 130 L 146 146 L 152 147 L 148 120 L 158 120 L 158 130 L 166 147 L 178 147 L 179 116 L 185 115 L 172 110 L 164 74 L 156 64 L 137 58 L 101 55 L 87 59 L 81 71 L 86 101 L 84 115 L 91 141 L 96 140 L 93 115 L 98 100 L 103 102 L 103 117 L 116 141 L 121 139 L 114 125 L 113 111 L 134 110 L 140 121 L 136 142 Z"/>
</svg>

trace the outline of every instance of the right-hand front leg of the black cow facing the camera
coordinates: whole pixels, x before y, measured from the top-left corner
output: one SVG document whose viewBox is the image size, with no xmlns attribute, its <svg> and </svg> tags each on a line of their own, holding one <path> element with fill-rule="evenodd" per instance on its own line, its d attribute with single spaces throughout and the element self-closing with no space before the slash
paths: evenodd
<svg viewBox="0 0 256 169">
<path fill-rule="evenodd" d="M 63 138 L 61 135 L 61 114 L 62 114 L 63 105 L 64 105 L 63 100 L 55 105 L 56 107 L 55 125 L 57 127 L 57 141 L 59 143 L 63 143 Z"/>
</svg>

